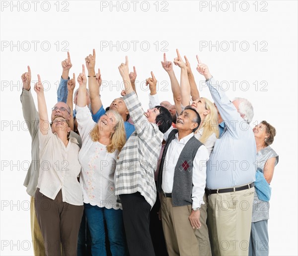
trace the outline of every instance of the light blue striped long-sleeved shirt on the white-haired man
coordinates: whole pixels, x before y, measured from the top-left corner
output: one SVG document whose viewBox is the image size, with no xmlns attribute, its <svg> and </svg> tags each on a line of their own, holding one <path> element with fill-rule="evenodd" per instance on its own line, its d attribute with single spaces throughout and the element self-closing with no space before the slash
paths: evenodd
<svg viewBox="0 0 298 256">
<path fill-rule="evenodd" d="M 207 162 L 207 187 L 220 189 L 251 183 L 255 181 L 256 171 L 252 128 L 241 118 L 218 81 L 211 78 L 206 84 L 225 124 Z"/>
</svg>

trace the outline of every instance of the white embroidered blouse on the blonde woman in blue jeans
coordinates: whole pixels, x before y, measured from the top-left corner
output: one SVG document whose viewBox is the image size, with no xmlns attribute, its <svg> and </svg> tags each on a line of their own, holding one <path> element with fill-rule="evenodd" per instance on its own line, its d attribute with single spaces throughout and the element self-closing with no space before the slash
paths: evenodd
<svg viewBox="0 0 298 256">
<path fill-rule="evenodd" d="M 90 131 L 96 123 L 92 120 L 87 106 L 76 106 L 76 121 L 78 131 L 82 138 L 82 147 L 78 160 L 82 166 L 80 184 L 83 190 L 83 201 L 86 204 L 105 207 L 107 209 L 120 209 L 116 202 L 114 173 L 118 150 L 109 153 L 106 146 L 93 141 Z"/>
</svg>

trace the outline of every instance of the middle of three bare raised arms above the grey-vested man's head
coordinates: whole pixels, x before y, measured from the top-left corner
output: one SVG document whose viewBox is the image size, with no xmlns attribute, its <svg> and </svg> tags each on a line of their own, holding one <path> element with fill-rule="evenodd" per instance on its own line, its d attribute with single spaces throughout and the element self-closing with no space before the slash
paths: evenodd
<svg viewBox="0 0 298 256">
<path fill-rule="evenodd" d="M 177 58 L 174 59 L 174 64 L 181 68 L 181 77 L 180 77 L 180 91 L 181 91 L 181 103 L 183 106 L 189 105 L 190 100 L 190 84 L 187 76 L 187 67 L 183 62 L 180 53 L 177 51 Z"/>
</svg>

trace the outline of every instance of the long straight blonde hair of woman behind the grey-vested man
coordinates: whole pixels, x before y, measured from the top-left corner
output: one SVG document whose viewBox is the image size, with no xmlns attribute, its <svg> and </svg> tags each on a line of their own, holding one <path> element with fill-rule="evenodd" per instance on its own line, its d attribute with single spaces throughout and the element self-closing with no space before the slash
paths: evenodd
<svg viewBox="0 0 298 256">
<path fill-rule="evenodd" d="M 216 137 L 219 137 L 219 117 L 218 112 L 214 106 L 214 104 L 206 99 L 205 100 L 205 109 L 209 110 L 210 113 L 202 120 L 203 134 L 202 137 L 199 139 L 203 144 L 207 141 L 207 139 L 212 135 L 212 133 L 216 134 Z"/>
</svg>

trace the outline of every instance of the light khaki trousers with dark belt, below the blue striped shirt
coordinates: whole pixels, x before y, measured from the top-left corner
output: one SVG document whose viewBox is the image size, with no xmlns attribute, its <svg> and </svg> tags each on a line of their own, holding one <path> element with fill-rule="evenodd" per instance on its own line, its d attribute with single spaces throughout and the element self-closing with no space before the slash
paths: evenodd
<svg viewBox="0 0 298 256">
<path fill-rule="evenodd" d="M 254 190 L 209 195 L 213 256 L 248 256 Z"/>
</svg>

